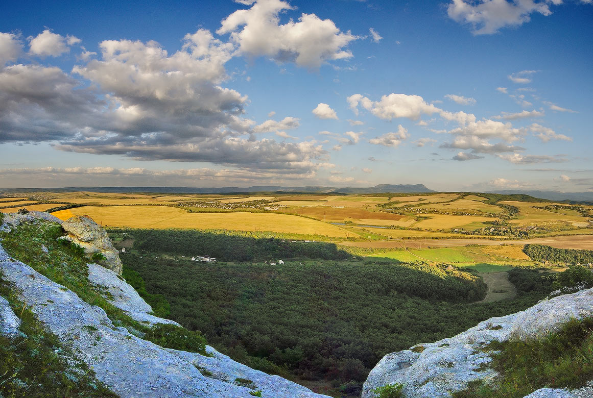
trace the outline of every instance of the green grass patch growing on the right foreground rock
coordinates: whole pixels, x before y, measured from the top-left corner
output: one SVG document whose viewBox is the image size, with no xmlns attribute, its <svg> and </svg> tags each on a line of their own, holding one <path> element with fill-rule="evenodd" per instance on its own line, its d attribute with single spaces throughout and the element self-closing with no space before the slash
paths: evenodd
<svg viewBox="0 0 593 398">
<path fill-rule="evenodd" d="M 492 385 L 470 383 L 454 398 L 521 398 L 535 390 L 583 386 L 593 377 L 593 317 L 571 320 L 562 330 L 537 341 L 493 342 Z"/>
</svg>

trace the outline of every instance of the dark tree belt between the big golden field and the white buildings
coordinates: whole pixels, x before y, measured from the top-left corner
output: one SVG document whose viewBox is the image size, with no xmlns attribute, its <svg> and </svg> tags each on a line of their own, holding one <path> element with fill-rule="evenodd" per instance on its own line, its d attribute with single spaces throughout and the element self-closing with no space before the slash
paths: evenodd
<svg viewBox="0 0 593 398">
<path fill-rule="evenodd" d="M 198 230 L 116 230 L 135 239 L 134 248 L 146 252 L 165 252 L 176 255 L 208 255 L 219 261 L 260 261 L 279 258 L 347 259 L 350 253 L 337 248 L 335 243 L 295 242 L 285 239 L 257 239 L 224 233 Z"/>
</svg>

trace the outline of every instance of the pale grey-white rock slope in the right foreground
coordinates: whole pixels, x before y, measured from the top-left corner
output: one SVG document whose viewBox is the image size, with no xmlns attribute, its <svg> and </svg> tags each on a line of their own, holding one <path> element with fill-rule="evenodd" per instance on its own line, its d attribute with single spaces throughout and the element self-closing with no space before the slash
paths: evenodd
<svg viewBox="0 0 593 398">
<path fill-rule="evenodd" d="M 592 315 L 593 288 L 553 297 L 515 314 L 490 318 L 452 338 L 392 352 L 371 370 L 362 398 L 374 398 L 373 389 L 394 383 L 404 384 L 407 398 L 450 397 L 450 391 L 463 390 L 470 381 L 496 377 L 495 371 L 481 367 L 490 361 L 489 354 L 484 352 L 490 342 L 540 339 L 556 332 L 572 318 Z M 589 389 L 588 396 L 591 392 Z M 568 391 L 556 390 L 556 393 L 561 397 Z M 550 391 L 540 394 L 548 395 L 534 397 L 554 396 Z"/>
</svg>

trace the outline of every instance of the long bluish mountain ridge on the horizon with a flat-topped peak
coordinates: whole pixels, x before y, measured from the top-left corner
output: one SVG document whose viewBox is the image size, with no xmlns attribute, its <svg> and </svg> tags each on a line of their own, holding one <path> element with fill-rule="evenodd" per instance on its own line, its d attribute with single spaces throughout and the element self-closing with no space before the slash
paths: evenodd
<svg viewBox="0 0 593 398">
<path fill-rule="evenodd" d="M 307 192 L 307 193 L 342 193 L 342 194 L 375 194 L 375 193 L 411 193 L 411 192 L 435 192 L 429 190 L 424 184 L 379 184 L 375 187 L 282 187 L 280 185 L 256 185 L 253 187 L 221 187 L 221 188 L 198 188 L 198 187 L 66 187 L 66 188 L 8 188 L 0 189 L 0 192 L 154 192 L 154 193 L 176 193 L 176 194 L 228 194 L 248 192 Z"/>
</svg>

